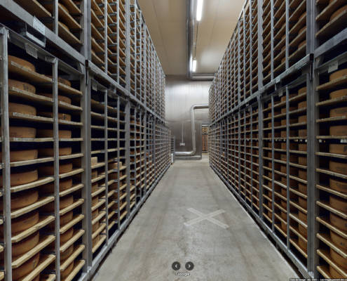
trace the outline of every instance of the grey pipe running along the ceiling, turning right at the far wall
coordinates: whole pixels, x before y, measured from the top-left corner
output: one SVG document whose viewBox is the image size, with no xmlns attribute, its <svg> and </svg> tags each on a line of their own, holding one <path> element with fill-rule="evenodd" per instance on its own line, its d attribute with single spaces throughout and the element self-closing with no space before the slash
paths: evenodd
<svg viewBox="0 0 347 281">
<path fill-rule="evenodd" d="M 186 73 L 189 80 L 213 80 L 215 74 L 193 74 L 195 0 L 188 0 L 186 7 Z"/>
</svg>

